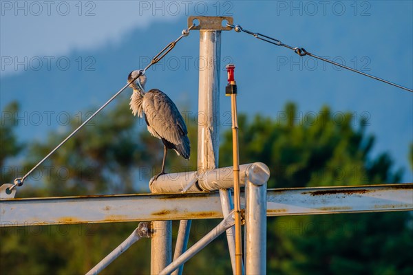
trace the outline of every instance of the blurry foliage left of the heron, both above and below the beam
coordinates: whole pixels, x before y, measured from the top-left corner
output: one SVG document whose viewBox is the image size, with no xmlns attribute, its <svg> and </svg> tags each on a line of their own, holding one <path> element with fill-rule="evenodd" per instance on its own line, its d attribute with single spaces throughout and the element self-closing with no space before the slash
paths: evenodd
<svg viewBox="0 0 413 275">
<path fill-rule="evenodd" d="M 12 111 L 17 111 L 17 108 Z M 25 158 L 28 160 L 23 164 L 25 171 L 81 123 L 71 121 L 65 131 L 59 129 L 47 135 L 47 140 L 28 145 L 28 157 Z M 39 166 L 36 171 L 40 170 L 38 175 L 42 177 L 38 180 L 28 177 L 23 187 L 18 189 L 18 197 L 120 194 L 141 190 L 142 186 L 134 184 L 136 177 L 140 176 L 136 175 L 140 172 L 137 168 L 154 166 L 157 156 L 152 152 L 158 151 L 158 144 L 146 133 L 140 133 L 140 124 L 142 121 L 131 115 L 127 99 L 123 98 L 112 109 L 100 113 Z M 2 124 L 2 160 L 19 153 L 13 125 L 12 122 Z M 6 147 L 3 147 L 3 140 Z M 145 174 L 145 177 L 149 176 Z M 136 226 L 136 223 L 102 223 L 1 228 L 1 273 L 84 274 L 116 248 Z M 149 241 L 141 241 L 139 246 L 126 252 L 125 257 L 109 266 L 106 274 L 129 274 L 129 270 L 149 273 L 147 257 L 130 261 L 141 250 L 149 251 L 148 245 Z M 124 269 L 124 266 L 128 268 Z"/>
</svg>

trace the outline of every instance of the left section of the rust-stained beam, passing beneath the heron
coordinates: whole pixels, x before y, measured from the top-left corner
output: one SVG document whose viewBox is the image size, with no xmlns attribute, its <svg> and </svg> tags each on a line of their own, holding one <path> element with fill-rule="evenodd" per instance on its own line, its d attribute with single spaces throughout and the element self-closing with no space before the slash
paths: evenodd
<svg viewBox="0 0 413 275">
<path fill-rule="evenodd" d="M 222 218 L 218 192 L 9 199 L 0 209 L 1 226 Z"/>
</svg>

